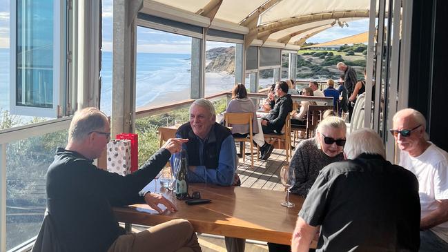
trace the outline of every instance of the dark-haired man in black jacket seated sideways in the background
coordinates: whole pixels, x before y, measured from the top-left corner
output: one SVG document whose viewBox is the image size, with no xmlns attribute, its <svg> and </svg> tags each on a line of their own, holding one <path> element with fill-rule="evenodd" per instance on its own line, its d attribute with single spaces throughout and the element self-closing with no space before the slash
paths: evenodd
<svg viewBox="0 0 448 252">
<path fill-rule="evenodd" d="M 265 117 L 262 117 L 262 130 L 263 133 L 281 133 L 284 126 L 286 117 L 293 110 L 293 100 L 291 95 L 288 94 L 288 84 L 284 81 L 277 82 L 275 84 L 275 95 L 277 101 L 271 100 L 271 111 Z M 267 160 L 273 151 L 274 146 L 272 144 L 264 143 L 260 147 L 261 159 Z"/>
</svg>

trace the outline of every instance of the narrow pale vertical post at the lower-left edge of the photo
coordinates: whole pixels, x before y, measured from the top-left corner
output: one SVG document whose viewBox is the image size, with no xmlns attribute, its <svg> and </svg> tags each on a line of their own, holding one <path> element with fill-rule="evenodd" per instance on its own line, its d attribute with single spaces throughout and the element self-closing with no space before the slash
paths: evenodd
<svg viewBox="0 0 448 252">
<path fill-rule="evenodd" d="M 6 251 L 6 148 L 0 144 L 0 251 Z"/>
</svg>

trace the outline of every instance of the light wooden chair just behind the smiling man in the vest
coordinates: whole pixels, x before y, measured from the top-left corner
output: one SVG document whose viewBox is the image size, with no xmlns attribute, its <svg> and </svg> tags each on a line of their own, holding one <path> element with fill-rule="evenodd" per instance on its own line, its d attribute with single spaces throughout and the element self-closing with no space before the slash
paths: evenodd
<svg viewBox="0 0 448 252">
<path fill-rule="evenodd" d="M 251 144 L 251 167 L 253 168 L 253 130 L 252 130 L 252 120 L 253 113 L 224 113 L 224 121 L 226 122 L 226 127 L 229 124 L 249 124 L 249 135 L 247 137 L 235 138 L 235 142 L 243 142 L 243 162 L 246 160 L 246 142 Z M 261 130 L 261 128 L 260 128 Z M 258 149 L 258 148 L 257 148 Z M 257 152 L 258 153 L 258 152 Z M 257 154 L 258 161 L 258 154 Z"/>
</svg>

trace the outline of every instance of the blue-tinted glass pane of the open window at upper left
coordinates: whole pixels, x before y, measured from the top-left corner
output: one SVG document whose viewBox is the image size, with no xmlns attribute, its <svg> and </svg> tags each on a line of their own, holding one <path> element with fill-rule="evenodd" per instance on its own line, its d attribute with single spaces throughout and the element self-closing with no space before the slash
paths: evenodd
<svg viewBox="0 0 448 252">
<path fill-rule="evenodd" d="M 53 1 L 17 1 L 16 105 L 53 107 Z"/>
</svg>

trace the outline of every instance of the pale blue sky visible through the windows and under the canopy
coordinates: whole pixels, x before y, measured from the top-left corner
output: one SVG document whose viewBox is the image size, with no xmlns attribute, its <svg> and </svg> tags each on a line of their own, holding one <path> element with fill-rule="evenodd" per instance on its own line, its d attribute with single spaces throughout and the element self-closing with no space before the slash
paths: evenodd
<svg viewBox="0 0 448 252">
<path fill-rule="evenodd" d="M 9 48 L 9 17 L 10 1 L 6 0 L 0 5 L 0 48 Z M 113 0 L 103 0 L 103 50 L 112 50 L 112 23 L 113 23 Z M 340 28 L 334 26 L 324 32 L 320 32 L 307 42 L 325 42 L 340 39 L 350 35 L 356 35 L 369 29 L 369 20 L 349 22 L 349 27 Z M 207 49 L 218 46 L 228 46 L 228 43 L 208 42 Z M 190 53 L 191 38 L 174 35 L 168 32 L 160 32 L 147 28 L 137 29 L 137 51 L 138 52 L 171 52 Z"/>
</svg>

